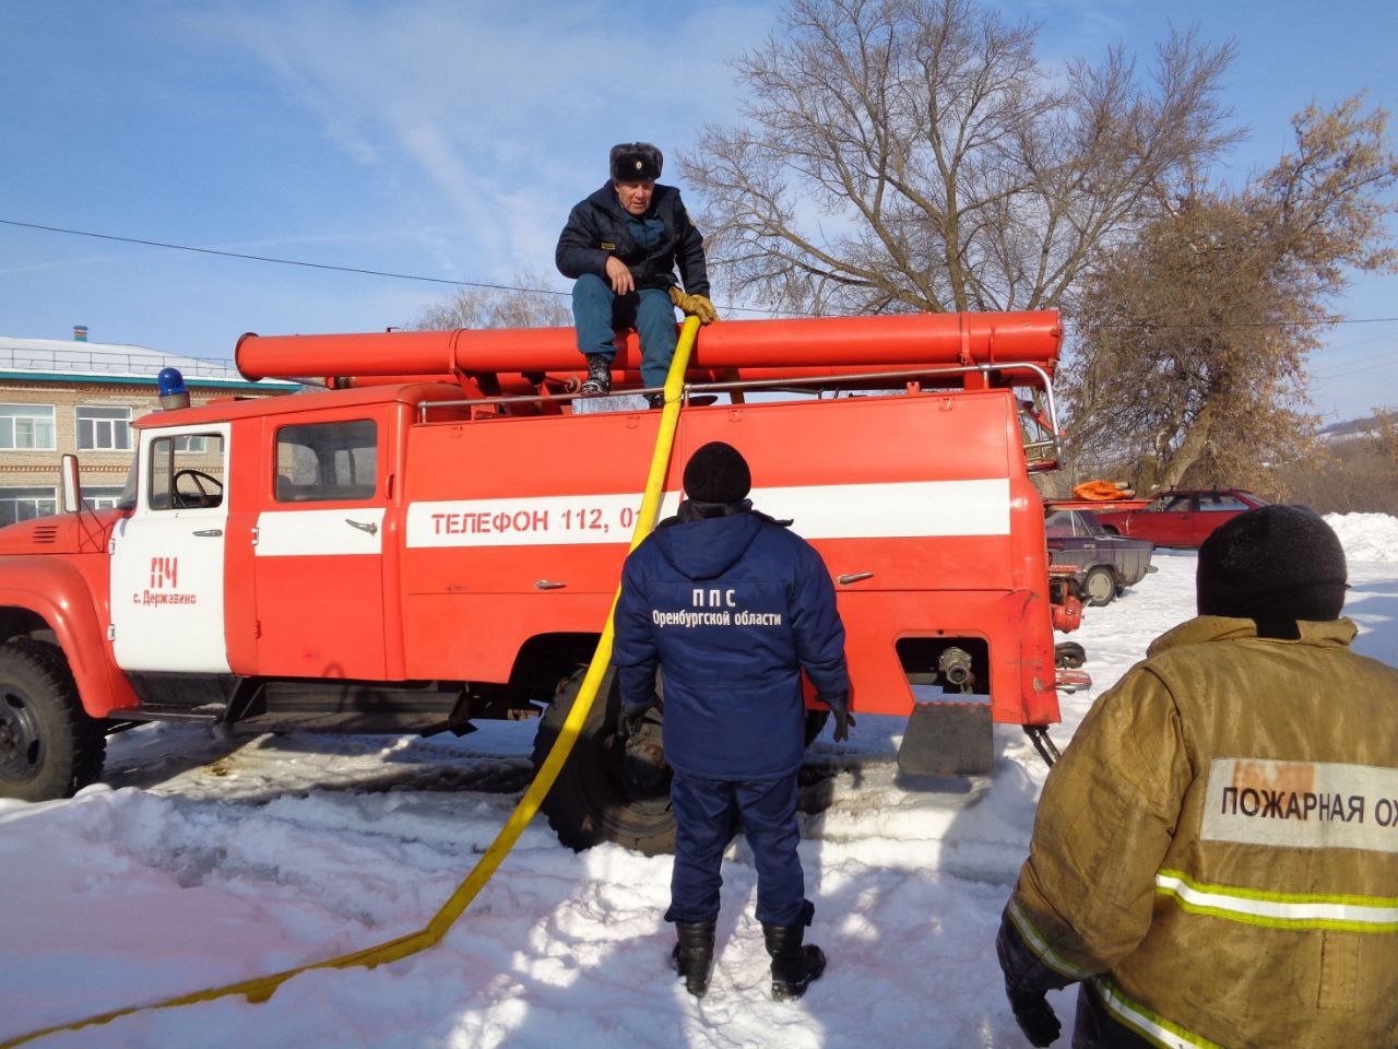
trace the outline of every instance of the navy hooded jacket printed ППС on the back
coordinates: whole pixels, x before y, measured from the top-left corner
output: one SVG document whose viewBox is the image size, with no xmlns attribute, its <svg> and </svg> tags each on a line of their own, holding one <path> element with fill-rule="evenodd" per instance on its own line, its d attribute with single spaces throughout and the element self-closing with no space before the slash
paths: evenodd
<svg viewBox="0 0 1398 1049">
<path fill-rule="evenodd" d="M 617 601 L 622 702 L 664 690 L 665 758 L 706 779 L 791 775 L 805 750 L 801 670 L 849 691 L 844 625 L 821 555 L 758 513 L 656 529 L 630 552 Z"/>
</svg>

